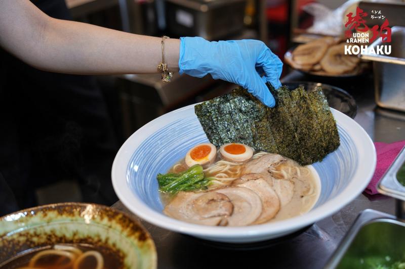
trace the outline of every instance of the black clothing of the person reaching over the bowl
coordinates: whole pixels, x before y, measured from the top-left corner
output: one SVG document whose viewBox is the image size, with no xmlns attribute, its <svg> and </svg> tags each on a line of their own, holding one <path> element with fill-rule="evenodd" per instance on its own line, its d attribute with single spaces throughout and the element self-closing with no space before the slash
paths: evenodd
<svg viewBox="0 0 405 269">
<path fill-rule="evenodd" d="M 70 19 L 63 0 L 31 0 Z M 34 69 L 0 48 L 0 216 L 34 206 L 34 190 L 77 180 L 84 201 L 117 200 L 110 171 L 117 144 L 93 77 Z"/>
</svg>

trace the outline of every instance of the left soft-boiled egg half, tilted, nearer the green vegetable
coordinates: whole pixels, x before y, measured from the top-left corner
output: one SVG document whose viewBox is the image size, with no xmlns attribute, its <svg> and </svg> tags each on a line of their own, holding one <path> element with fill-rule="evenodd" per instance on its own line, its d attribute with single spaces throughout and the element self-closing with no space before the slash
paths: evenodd
<svg viewBox="0 0 405 269">
<path fill-rule="evenodd" d="M 186 154 L 186 165 L 207 165 L 213 163 L 217 157 L 217 148 L 211 143 L 198 144 L 192 147 Z"/>
</svg>

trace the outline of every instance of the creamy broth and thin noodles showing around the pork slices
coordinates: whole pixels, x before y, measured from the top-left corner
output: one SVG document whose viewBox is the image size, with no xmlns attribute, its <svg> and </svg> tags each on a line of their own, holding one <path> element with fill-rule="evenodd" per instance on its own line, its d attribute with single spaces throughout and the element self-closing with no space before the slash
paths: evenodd
<svg viewBox="0 0 405 269">
<path fill-rule="evenodd" d="M 260 158 L 267 152 L 257 152 L 252 159 Z M 295 216 L 300 216 L 308 212 L 316 203 L 320 194 L 320 179 L 316 170 L 312 166 L 302 167 L 294 160 L 286 158 L 287 161 L 274 167 L 271 171 L 271 176 L 275 179 L 287 179 L 294 183 L 294 194 L 291 201 L 283 206 L 280 206 L 279 211 L 269 222 L 289 219 Z M 214 177 L 216 180 L 206 192 L 217 188 L 233 185 L 233 182 L 243 176 L 245 163 L 228 162 L 218 154 L 215 162 L 211 165 L 204 166 L 206 177 Z M 187 170 L 184 158 L 176 163 L 168 173 L 180 173 Z M 175 195 L 160 193 L 161 201 L 164 206 L 169 204 Z"/>
</svg>

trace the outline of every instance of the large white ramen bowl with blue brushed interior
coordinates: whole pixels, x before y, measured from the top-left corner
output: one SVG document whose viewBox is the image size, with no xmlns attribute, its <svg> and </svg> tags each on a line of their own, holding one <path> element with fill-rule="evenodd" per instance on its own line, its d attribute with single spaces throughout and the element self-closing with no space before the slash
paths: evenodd
<svg viewBox="0 0 405 269">
<path fill-rule="evenodd" d="M 133 213 L 161 228 L 212 241 L 248 243 L 293 233 L 335 213 L 357 197 L 376 166 L 369 135 L 355 121 L 331 109 L 340 135 L 339 148 L 313 164 L 321 184 L 319 199 L 302 216 L 245 227 L 212 227 L 179 221 L 162 212 L 156 175 L 166 173 L 187 151 L 208 142 L 188 105 L 165 114 L 136 131 L 121 146 L 112 165 L 112 183 L 119 199 Z"/>
</svg>

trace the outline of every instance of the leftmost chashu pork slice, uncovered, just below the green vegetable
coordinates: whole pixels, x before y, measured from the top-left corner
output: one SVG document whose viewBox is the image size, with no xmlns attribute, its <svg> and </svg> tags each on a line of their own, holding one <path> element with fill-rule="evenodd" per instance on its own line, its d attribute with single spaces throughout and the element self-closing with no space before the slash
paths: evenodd
<svg viewBox="0 0 405 269">
<path fill-rule="evenodd" d="M 214 191 L 179 192 L 163 210 L 167 216 L 177 220 L 210 226 L 225 224 L 224 218 L 230 216 L 232 211 L 230 199 Z"/>
</svg>

